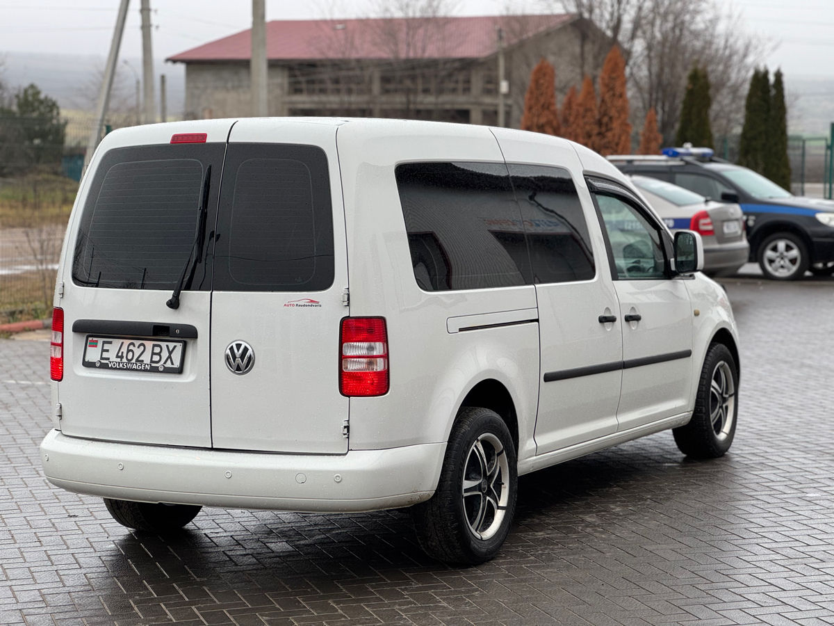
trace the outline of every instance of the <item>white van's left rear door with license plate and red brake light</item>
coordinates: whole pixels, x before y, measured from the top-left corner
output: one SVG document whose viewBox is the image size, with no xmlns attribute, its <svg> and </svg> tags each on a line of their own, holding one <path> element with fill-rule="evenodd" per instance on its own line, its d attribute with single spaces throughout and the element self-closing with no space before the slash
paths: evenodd
<svg viewBox="0 0 834 626">
<path fill-rule="evenodd" d="M 123 129 L 99 146 L 58 270 L 64 434 L 211 445 L 208 228 L 197 235 L 214 224 L 231 125 L 183 123 L 173 137 L 171 124 Z M 198 239 L 181 303 L 169 308 Z"/>
</svg>

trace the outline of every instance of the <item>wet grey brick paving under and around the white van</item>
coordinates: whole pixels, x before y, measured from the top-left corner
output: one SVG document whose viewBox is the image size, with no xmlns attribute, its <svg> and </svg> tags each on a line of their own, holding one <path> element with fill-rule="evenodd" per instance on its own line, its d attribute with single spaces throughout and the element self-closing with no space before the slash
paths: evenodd
<svg viewBox="0 0 834 626">
<path fill-rule="evenodd" d="M 425 558 L 404 512 L 130 533 L 43 479 L 48 343 L 0 340 L 0 623 L 834 623 L 834 280 L 726 285 L 731 452 L 691 462 L 665 432 L 523 477 L 504 550 L 469 569 Z"/>
</svg>

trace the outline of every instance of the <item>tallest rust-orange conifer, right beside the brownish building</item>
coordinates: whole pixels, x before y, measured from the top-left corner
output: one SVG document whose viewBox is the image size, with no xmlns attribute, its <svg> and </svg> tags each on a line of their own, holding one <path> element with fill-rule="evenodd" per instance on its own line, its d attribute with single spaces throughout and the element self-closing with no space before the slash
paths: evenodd
<svg viewBox="0 0 834 626">
<path fill-rule="evenodd" d="M 597 149 L 603 156 L 631 152 L 631 124 L 625 93 L 625 58 L 614 46 L 605 57 L 600 73 Z"/>
</svg>

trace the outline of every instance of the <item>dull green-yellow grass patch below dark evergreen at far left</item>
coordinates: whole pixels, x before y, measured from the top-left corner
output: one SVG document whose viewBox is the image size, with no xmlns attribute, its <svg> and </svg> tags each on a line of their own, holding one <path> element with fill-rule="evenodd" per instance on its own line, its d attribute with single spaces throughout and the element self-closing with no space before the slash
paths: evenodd
<svg viewBox="0 0 834 626">
<path fill-rule="evenodd" d="M 78 183 L 57 174 L 27 174 L 0 181 L 0 227 L 66 224 Z"/>
</svg>

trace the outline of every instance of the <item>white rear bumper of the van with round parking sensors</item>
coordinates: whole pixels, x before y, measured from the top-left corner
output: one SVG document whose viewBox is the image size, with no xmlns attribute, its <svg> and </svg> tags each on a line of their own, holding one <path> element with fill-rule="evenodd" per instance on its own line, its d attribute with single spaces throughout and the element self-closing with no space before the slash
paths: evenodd
<svg viewBox="0 0 834 626">
<path fill-rule="evenodd" d="M 232 452 L 101 442 L 49 432 L 43 473 L 71 492 L 137 502 L 282 511 L 407 507 L 435 492 L 445 443 L 344 455 Z"/>
</svg>

